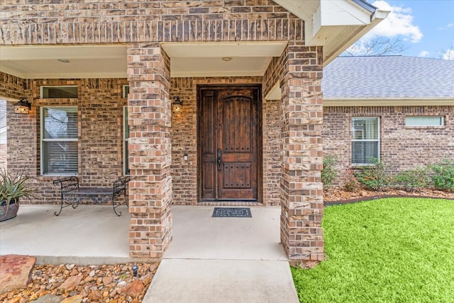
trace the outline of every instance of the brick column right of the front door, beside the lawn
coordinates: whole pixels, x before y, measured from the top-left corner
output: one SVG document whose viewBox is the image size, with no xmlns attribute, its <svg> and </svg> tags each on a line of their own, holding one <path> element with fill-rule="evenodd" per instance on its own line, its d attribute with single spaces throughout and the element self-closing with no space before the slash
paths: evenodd
<svg viewBox="0 0 454 303">
<path fill-rule="evenodd" d="M 314 263 L 324 255 L 321 52 L 289 43 L 281 79 L 281 241 L 292 263 Z"/>
</svg>

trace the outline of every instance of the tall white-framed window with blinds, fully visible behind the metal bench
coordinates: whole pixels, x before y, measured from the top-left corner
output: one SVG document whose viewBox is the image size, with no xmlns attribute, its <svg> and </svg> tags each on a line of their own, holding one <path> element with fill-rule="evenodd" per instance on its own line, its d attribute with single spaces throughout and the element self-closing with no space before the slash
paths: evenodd
<svg viewBox="0 0 454 303">
<path fill-rule="evenodd" d="M 77 107 L 41 108 L 41 175 L 77 175 Z"/>
</svg>

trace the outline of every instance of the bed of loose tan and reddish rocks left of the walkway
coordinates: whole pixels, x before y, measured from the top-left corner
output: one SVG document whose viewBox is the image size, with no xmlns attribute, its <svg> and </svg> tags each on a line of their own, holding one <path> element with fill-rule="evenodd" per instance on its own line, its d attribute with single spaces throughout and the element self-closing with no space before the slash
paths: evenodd
<svg viewBox="0 0 454 303">
<path fill-rule="evenodd" d="M 138 266 L 137 277 L 133 276 L 134 265 Z M 35 265 L 33 281 L 21 289 L 0 294 L 0 302 L 57 303 L 67 299 L 66 302 L 138 303 L 145 296 L 158 265 Z"/>
</svg>

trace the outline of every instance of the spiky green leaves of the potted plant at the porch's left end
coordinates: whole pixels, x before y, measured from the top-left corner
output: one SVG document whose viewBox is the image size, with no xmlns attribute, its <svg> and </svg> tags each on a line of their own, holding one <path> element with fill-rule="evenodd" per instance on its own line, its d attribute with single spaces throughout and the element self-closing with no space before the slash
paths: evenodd
<svg viewBox="0 0 454 303">
<path fill-rule="evenodd" d="M 31 197 L 35 188 L 28 186 L 29 175 L 17 173 L 11 175 L 4 169 L 0 170 L 0 202 L 5 201 L 6 205 L 21 197 Z"/>
</svg>

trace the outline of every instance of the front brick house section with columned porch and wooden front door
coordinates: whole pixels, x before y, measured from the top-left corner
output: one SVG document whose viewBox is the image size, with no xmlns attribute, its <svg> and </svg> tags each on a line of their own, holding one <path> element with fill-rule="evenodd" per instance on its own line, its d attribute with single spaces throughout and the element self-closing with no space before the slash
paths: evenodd
<svg viewBox="0 0 454 303">
<path fill-rule="evenodd" d="M 46 204 L 58 176 L 131 175 L 132 257 L 162 258 L 171 204 L 228 204 L 280 205 L 289 258 L 322 260 L 323 66 L 386 16 L 363 0 L 4 0 L 8 169 Z"/>
</svg>

